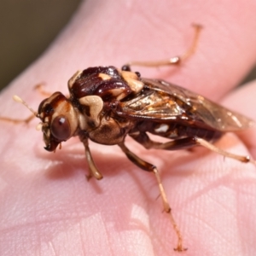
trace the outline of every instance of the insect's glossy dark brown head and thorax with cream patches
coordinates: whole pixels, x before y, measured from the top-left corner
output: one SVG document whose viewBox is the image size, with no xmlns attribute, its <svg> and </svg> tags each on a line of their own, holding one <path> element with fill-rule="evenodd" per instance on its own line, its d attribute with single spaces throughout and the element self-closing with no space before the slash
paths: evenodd
<svg viewBox="0 0 256 256">
<path fill-rule="evenodd" d="M 119 117 L 112 109 L 125 97 L 143 90 L 136 73 L 115 67 L 90 67 L 76 73 L 68 87 L 69 99 L 55 92 L 39 105 L 45 149 L 54 151 L 73 136 L 108 145 L 124 140 L 135 123 Z"/>
</svg>

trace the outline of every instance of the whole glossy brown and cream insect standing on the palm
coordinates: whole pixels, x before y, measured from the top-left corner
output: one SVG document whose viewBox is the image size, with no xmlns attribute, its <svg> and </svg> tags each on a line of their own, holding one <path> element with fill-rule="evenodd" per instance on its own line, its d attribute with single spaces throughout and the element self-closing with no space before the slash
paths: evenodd
<svg viewBox="0 0 256 256">
<path fill-rule="evenodd" d="M 68 81 L 69 98 L 55 92 L 40 103 L 38 112 L 30 108 L 41 120 L 38 129 L 44 133 L 46 150 L 55 151 L 62 142 L 79 137 L 84 144 L 89 177 L 102 178 L 90 154 L 89 139 L 99 144 L 119 145 L 135 165 L 153 172 L 165 212 L 177 233 L 177 251 L 184 250 L 183 239 L 172 217 L 160 174 L 156 166 L 125 146 L 125 137 L 132 137 L 144 148 L 177 150 L 200 145 L 226 157 L 254 163 L 248 156 L 230 154 L 212 144 L 225 132 L 251 127 L 253 120 L 177 85 L 160 79 L 144 79 L 139 73 L 131 72 L 131 65 L 176 65 L 183 61 L 193 53 L 200 29 L 201 26 L 195 26 L 193 44 L 182 57 L 168 61 L 131 62 L 121 70 L 111 66 L 89 67 L 75 73 Z M 15 99 L 26 105 L 19 97 L 15 96 Z M 154 142 L 148 133 L 170 141 Z"/>
</svg>

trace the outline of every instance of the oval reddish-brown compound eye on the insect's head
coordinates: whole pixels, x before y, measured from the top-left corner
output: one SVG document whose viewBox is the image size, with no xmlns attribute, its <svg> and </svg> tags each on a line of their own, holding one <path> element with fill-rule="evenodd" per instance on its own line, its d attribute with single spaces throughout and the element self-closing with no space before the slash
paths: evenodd
<svg viewBox="0 0 256 256">
<path fill-rule="evenodd" d="M 67 118 L 64 115 L 55 117 L 50 125 L 50 131 L 59 141 L 66 141 L 71 137 L 71 129 Z"/>
</svg>

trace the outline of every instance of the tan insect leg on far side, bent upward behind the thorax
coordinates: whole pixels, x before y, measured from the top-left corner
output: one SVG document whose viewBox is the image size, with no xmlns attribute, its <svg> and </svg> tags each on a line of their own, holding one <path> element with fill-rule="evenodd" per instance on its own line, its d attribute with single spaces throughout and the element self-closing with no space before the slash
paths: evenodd
<svg viewBox="0 0 256 256">
<path fill-rule="evenodd" d="M 168 65 L 178 65 L 181 61 L 185 61 L 191 55 L 195 53 L 195 49 L 197 48 L 197 44 L 199 41 L 200 32 L 202 26 L 200 24 L 192 24 L 195 28 L 195 36 L 193 38 L 192 44 L 190 45 L 189 49 L 180 56 L 174 56 L 166 60 L 160 61 L 131 61 L 125 64 L 122 67 L 122 70 L 131 71 L 131 66 L 143 66 L 143 67 L 160 67 L 160 66 L 168 66 Z"/>
</svg>

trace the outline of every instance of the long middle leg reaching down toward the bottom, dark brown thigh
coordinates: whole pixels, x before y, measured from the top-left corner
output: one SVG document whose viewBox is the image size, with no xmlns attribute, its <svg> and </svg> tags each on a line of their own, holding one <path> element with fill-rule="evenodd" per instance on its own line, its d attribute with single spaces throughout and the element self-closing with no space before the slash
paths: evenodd
<svg viewBox="0 0 256 256">
<path fill-rule="evenodd" d="M 168 216 L 172 222 L 173 229 L 175 230 L 175 232 L 177 234 L 177 248 L 175 248 L 175 250 L 177 250 L 179 252 L 186 250 L 186 248 L 183 248 L 183 238 L 182 238 L 181 233 L 177 227 L 176 221 L 174 220 L 174 218 L 172 216 L 172 209 L 167 201 L 166 191 L 164 189 L 163 183 L 160 178 L 160 173 L 158 172 L 157 168 L 154 165 L 146 162 L 145 160 L 142 160 L 136 154 L 133 154 L 129 150 L 129 148 L 126 148 L 124 143 L 119 143 L 119 147 L 123 150 L 123 152 L 126 154 L 128 159 L 131 160 L 135 165 L 137 165 L 144 171 L 154 172 L 154 176 L 156 177 L 156 180 L 157 180 L 157 183 L 158 183 L 158 186 L 160 189 L 160 196 L 161 196 L 161 199 L 163 202 L 165 212 L 168 213 Z"/>
</svg>

